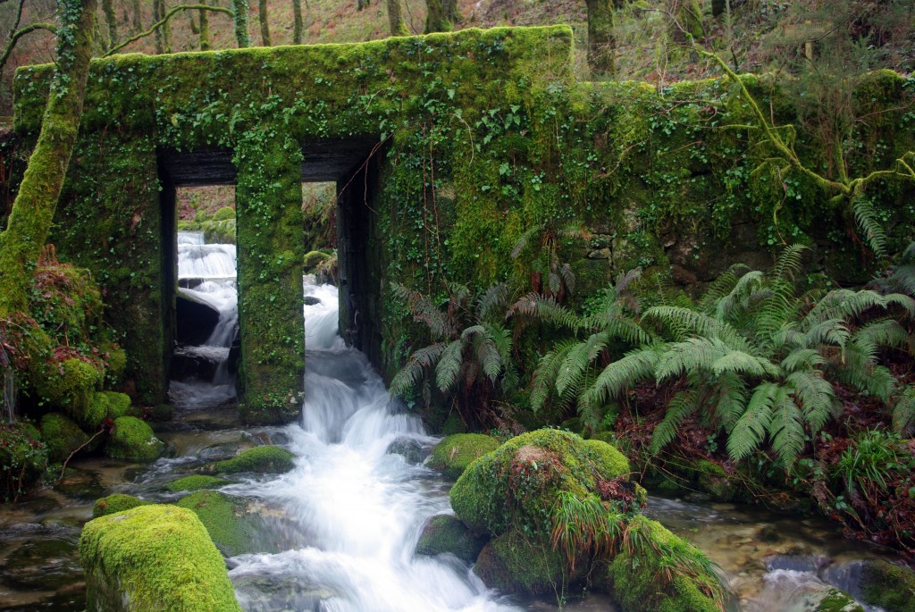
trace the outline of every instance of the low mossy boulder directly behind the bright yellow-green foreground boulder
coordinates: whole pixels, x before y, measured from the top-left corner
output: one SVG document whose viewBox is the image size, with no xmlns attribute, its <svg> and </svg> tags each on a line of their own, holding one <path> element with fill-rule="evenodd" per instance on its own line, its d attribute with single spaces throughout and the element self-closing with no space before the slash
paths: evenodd
<svg viewBox="0 0 915 612">
<path fill-rule="evenodd" d="M 219 491 L 197 491 L 179 499 L 176 505 L 197 514 L 210 539 L 226 556 L 256 552 L 253 548 L 256 516 L 247 512 L 246 499 Z"/>
</svg>

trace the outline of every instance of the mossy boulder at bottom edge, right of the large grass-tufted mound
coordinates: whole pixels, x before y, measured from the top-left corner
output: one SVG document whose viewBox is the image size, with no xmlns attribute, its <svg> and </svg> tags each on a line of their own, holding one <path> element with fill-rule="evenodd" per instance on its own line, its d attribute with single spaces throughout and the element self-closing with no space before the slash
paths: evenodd
<svg viewBox="0 0 915 612">
<path fill-rule="evenodd" d="M 608 583 L 598 585 L 607 588 L 623 612 L 721 611 L 712 595 L 723 591 L 702 551 L 642 516 L 633 518 L 627 530 L 630 543 L 610 564 Z"/>
</svg>

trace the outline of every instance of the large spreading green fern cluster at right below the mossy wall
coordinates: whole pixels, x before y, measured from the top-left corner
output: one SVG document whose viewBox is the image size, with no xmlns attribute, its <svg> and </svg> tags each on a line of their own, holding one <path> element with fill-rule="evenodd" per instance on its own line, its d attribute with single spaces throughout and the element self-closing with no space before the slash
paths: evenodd
<svg viewBox="0 0 915 612">
<path fill-rule="evenodd" d="M 768 440 L 791 464 L 808 436 L 839 412 L 834 383 L 841 383 L 892 407 L 896 430 L 910 430 L 915 392 L 899 392 L 877 355 L 888 347 L 911 352 L 912 337 L 898 317 L 873 313 L 895 310 L 911 318 L 915 300 L 872 290 L 800 294 L 794 279 L 803 250 L 786 249 L 768 274 L 733 267 L 697 309 L 653 306 L 637 320 L 622 304 L 622 278 L 608 290 L 597 318 L 571 317 L 552 304 L 538 304 L 556 324 L 591 333 L 544 356 L 535 374 L 533 407 L 554 393 L 588 413 L 645 381 L 685 381 L 654 430 L 653 451 L 670 444 L 684 420 L 700 413 L 727 432 L 733 458 L 749 456 Z M 650 325 L 666 339 L 652 338 Z M 602 365 L 611 340 L 636 348 Z"/>
</svg>

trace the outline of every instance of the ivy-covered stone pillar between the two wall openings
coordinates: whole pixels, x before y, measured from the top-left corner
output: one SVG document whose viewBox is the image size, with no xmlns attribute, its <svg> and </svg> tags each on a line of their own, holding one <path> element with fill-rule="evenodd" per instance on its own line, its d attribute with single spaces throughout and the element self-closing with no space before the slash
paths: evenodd
<svg viewBox="0 0 915 612">
<path fill-rule="evenodd" d="M 301 160 L 298 143 L 271 127 L 251 130 L 235 150 L 240 410 L 247 423 L 294 421 L 304 397 Z"/>
</svg>

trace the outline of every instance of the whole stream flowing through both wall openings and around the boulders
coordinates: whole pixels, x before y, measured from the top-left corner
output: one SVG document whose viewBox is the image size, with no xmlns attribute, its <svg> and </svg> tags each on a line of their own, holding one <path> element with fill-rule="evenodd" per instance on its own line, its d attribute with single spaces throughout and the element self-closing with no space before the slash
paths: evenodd
<svg viewBox="0 0 915 612">
<path fill-rule="evenodd" d="M 404 458 L 412 453 L 389 452 L 408 448 L 423 456 L 437 438 L 390 400 L 368 360 L 339 338 L 336 287 L 304 288 L 310 299 L 301 423 L 244 428 L 227 367 L 237 325 L 234 247 L 179 236 L 179 279 L 194 279 L 194 288 L 181 291 L 213 306 L 220 319 L 202 345 L 179 349 L 212 361 L 213 373 L 209 380 L 173 381 L 175 419 L 156 428 L 170 455 L 146 466 L 74 460 L 59 485 L 0 505 L 0 610 L 84 609 L 75 546 L 81 525 L 92 517 L 92 502 L 114 492 L 173 502 L 181 494 L 169 493 L 167 482 L 193 472 L 214 453 L 251 441 L 286 446 L 297 460 L 284 475 L 236 478 L 221 489 L 252 499 L 270 528 L 259 541 L 264 553 L 227 560 L 245 610 L 558 609 L 555 597 L 500 596 L 453 557 L 414 556 L 425 521 L 450 511 L 451 483 L 421 461 Z M 735 609 L 747 612 L 800 612 L 824 581 L 842 588 L 856 561 L 896 558 L 846 540 L 826 521 L 755 507 L 651 497 L 647 514 L 702 548 L 727 579 Z M 563 609 L 615 608 L 605 596 L 587 596 Z"/>
</svg>

